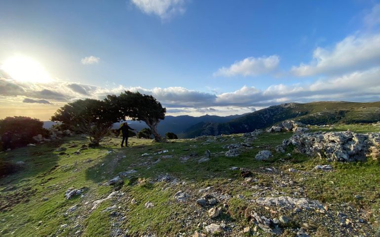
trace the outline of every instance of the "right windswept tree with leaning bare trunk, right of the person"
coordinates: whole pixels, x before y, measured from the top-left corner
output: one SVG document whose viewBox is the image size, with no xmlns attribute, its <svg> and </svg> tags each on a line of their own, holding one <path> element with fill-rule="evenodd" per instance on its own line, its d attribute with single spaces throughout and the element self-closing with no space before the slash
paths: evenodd
<svg viewBox="0 0 380 237">
<path fill-rule="evenodd" d="M 111 104 L 113 111 L 120 113 L 120 120 L 128 117 L 132 120 L 144 121 L 151 128 L 154 140 L 161 141 L 157 125 L 165 118 L 166 108 L 162 108 L 161 103 L 152 95 L 124 91 L 119 96 L 108 95 L 105 101 Z"/>
</svg>

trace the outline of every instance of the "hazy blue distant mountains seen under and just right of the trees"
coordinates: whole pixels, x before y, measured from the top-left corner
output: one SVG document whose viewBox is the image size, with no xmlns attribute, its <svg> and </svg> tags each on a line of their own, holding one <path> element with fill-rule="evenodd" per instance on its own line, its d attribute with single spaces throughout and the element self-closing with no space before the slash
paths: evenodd
<svg viewBox="0 0 380 237">
<path fill-rule="evenodd" d="M 161 120 L 157 126 L 157 130 L 161 135 L 165 135 L 167 132 L 174 132 L 179 137 L 184 138 L 184 132 L 194 124 L 200 122 L 217 122 L 224 123 L 228 122 L 235 118 L 240 118 L 244 115 L 230 115 L 226 117 L 216 116 L 216 115 L 204 115 L 200 117 L 192 117 L 188 115 L 182 116 L 165 116 L 164 120 Z M 141 130 L 145 127 L 148 127 L 145 122 L 127 120 L 128 124 L 137 130 Z M 115 123 L 114 128 L 119 128 L 120 123 Z"/>
</svg>

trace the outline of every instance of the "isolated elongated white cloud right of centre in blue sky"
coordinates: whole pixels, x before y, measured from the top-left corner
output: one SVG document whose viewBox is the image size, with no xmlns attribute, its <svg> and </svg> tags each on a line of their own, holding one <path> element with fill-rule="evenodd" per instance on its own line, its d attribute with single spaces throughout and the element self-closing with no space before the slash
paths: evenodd
<svg viewBox="0 0 380 237">
<path fill-rule="evenodd" d="M 222 67 L 213 75 L 214 77 L 224 76 L 232 77 L 237 75 L 242 76 L 257 76 L 260 74 L 267 74 L 277 69 L 280 62 L 278 55 L 271 55 L 269 57 L 249 57 L 241 61 L 233 63 L 228 68 Z"/>
</svg>

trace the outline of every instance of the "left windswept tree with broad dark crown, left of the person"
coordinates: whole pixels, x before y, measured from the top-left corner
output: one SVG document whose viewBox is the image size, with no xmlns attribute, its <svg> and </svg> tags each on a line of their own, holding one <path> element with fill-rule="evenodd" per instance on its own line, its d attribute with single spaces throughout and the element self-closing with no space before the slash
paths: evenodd
<svg viewBox="0 0 380 237">
<path fill-rule="evenodd" d="M 108 101 L 85 99 L 64 105 L 51 120 L 88 135 L 91 142 L 89 146 L 99 146 L 119 117 L 119 112 L 113 111 Z"/>
</svg>

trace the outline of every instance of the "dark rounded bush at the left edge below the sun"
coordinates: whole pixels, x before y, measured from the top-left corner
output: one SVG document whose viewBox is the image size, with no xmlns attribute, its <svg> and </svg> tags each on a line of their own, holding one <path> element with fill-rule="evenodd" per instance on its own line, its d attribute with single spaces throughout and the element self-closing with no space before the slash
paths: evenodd
<svg viewBox="0 0 380 237">
<path fill-rule="evenodd" d="M 10 148 L 18 148 L 35 142 L 34 136 L 41 134 L 43 137 L 49 135 L 49 131 L 42 127 L 43 122 L 37 118 L 22 116 L 6 117 L 0 119 L 0 134 L 9 131 L 11 135 Z"/>
</svg>

